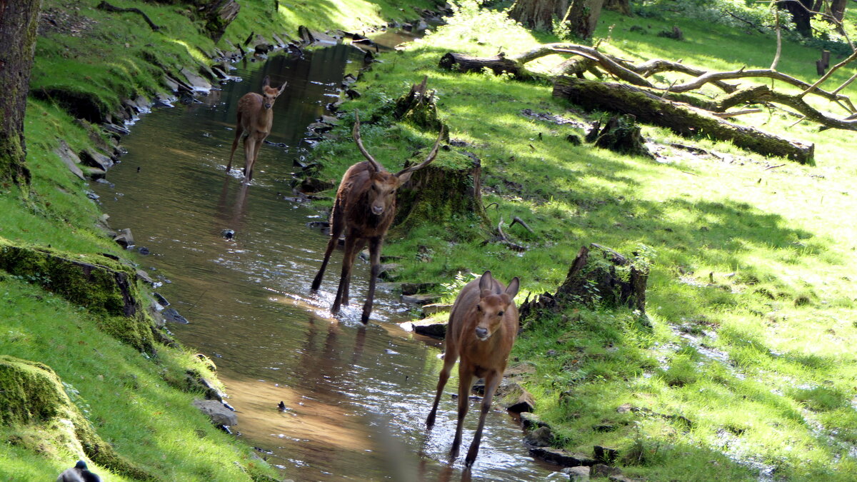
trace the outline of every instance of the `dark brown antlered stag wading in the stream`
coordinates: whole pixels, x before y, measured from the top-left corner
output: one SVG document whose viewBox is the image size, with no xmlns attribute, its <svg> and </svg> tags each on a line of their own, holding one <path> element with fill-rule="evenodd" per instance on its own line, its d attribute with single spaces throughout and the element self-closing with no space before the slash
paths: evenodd
<svg viewBox="0 0 857 482">
<path fill-rule="evenodd" d="M 366 295 L 363 315 L 360 318 L 360 321 L 366 324 L 369 322 L 372 302 L 375 298 L 375 280 L 381 271 L 381 245 L 396 214 L 396 190 L 408 182 L 413 172 L 423 169 L 434 160 L 440 147 L 440 140 L 443 139 L 444 130 L 440 129 L 440 136 L 437 137 L 434 147 L 423 162 L 405 167 L 393 174 L 384 169 L 384 166 L 381 166 L 363 147 L 363 141 L 360 138 L 360 116 L 357 111 L 354 117 L 354 130 L 351 136 L 354 137 L 357 148 L 366 160 L 349 167 L 342 177 L 342 182 L 339 183 L 330 215 L 330 239 L 327 241 L 324 261 L 321 262 L 321 268 L 315 275 L 311 289 L 316 292 L 321 286 L 321 279 L 324 277 L 333 248 L 339 243 L 339 236 L 345 232 L 342 273 L 339 275 L 339 288 L 330 310 L 334 315 L 338 314 L 341 305 L 348 305 L 351 265 L 354 264 L 354 257 L 368 242 L 369 262 L 372 268 L 369 274 L 369 293 Z"/>
</svg>

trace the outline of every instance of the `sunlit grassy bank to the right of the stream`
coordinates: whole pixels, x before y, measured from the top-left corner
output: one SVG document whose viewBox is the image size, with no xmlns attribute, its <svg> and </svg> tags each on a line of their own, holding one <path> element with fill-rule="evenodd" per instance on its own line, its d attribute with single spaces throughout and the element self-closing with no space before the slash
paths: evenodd
<svg viewBox="0 0 857 482">
<path fill-rule="evenodd" d="M 773 37 L 668 15 L 608 12 L 596 36 L 603 51 L 632 60 L 683 58 L 712 70 L 770 66 Z M 656 37 L 674 25 L 684 41 Z M 500 216 L 518 216 L 535 232 L 506 228 L 529 248 L 518 254 L 483 246 L 487 226 L 466 218 L 394 230 L 384 252 L 403 256 L 399 280 L 450 283 L 491 269 L 499 280 L 521 277 L 520 302 L 527 292 L 554 292 L 581 245 L 644 250 L 653 262 L 651 326 L 631 312 L 572 306 L 536 317 L 518 340 L 514 356 L 535 368 L 528 388 L 554 427 L 554 442 L 585 453 L 593 445 L 619 449 L 627 474 L 652 480 L 857 477 L 854 134 L 818 132 L 764 110 L 738 122 L 816 143 L 817 166 L 654 127 L 644 127 L 653 142 L 690 142 L 717 157 L 674 148 L 657 161 L 627 157 L 573 146 L 566 136 L 581 130 L 522 115 L 599 117 L 552 98 L 548 85 L 437 67 L 447 51 L 514 54 L 556 40 L 471 5 L 382 57 L 357 84 L 363 97 L 344 107 L 368 119 L 428 75 L 451 138 L 464 142 L 458 150 L 482 160 L 483 201 L 498 205 L 489 218 L 495 225 Z M 816 57 L 787 43 L 778 69 L 812 82 Z M 548 69 L 558 61 L 540 63 Z M 851 73 L 836 73 L 830 85 Z M 323 177 L 336 180 L 361 160 L 346 130 L 345 141 L 315 151 Z M 390 169 L 434 136 L 389 117 L 363 126 L 363 143 Z"/>
</svg>

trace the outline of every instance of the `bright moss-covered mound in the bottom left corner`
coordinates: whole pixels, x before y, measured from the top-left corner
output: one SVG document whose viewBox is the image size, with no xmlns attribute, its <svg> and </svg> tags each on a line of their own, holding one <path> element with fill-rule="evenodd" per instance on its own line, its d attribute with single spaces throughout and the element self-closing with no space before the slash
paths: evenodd
<svg viewBox="0 0 857 482">
<path fill-rule="evenodd" d="M 44 434 L 41 443 L 63 443 L 72 453 L 86 454 L 100 466 L 131 479 L 155 479 L 95 433 L 47 365 L 0 355 L 0 425 L 26 425 L 22 433 L 38 430 Z M 18 436 L 10 442 L 27 443 L 31 438 Z"/>
</svg>

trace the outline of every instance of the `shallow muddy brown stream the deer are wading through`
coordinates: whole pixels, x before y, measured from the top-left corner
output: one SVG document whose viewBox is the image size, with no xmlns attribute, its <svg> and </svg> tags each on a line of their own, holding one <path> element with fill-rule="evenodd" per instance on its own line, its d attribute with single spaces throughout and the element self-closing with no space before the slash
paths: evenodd
<svg viewBox="0 0 857 482">
<path fill-rule="evenodd" d="M 393 41 L 399 39 L 393 37 Z M 137 256 L 171 304 L 189 320 L 169 328 L 186 346 L 219 367 L 232 427 L 246 443 L 296 480 L 462 479 L 463 456 L 446 453 L 455 427 L 457 381 L 446 387 L 439 421 L 423 421 L 440 369 L 440 343 L 400 330 L 408 306 L 380 290 L 363 328 L 359 306 L 368 264 L 358 261 L 352 304 L 338 322 L 327 314 L 341 252 L 335 253 L 318 295 L 309 283 L 327 239 L 309 229 L 323 220 L 315 208 L 287 201 L 292 161 L 306 155 L 308 124 L 335 99 L 339 82 L 363 56 L 334 45 L 304 58 L 274 54 L 265 63 L 237 64 L 243 81 L 229 82 L 202 103 L 155 109 L 123 138 L 127 151 L 107 183 L 93 184 L 111 226 L 131 228 Z M 270 75 L 289 86 L 274 105 L 255 179 L 242 185 L 224 172 L 234 137 L 236 105 Z M 284 147 L 285 146 L 285 147 Z M 382 160 L 383 161 L 383 160 Z M 243 166 L 239 147 L 235 166 Z M 221 232 L 234 230 L 225 239 Z M 278 403 L 285 404 L 279 411 Z M 471 402 L 464 444 L 476 426 Z M 473 479 L 543 479 L 550 467 L 534 461 L 521 431 L 500 409 L 490 413 Z M 465 448 L 466 449 L 466 445 Z M 398 471 L 398 472 L 397 472 Z M 559 474 L 556 474 L 558 476 Z"/>
</svg>

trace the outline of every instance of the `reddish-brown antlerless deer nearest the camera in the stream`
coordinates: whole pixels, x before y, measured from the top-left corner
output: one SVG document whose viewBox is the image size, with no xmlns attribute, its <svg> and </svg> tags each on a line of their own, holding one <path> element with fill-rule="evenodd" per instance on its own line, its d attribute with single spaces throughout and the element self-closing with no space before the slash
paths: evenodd
<svg viewBox="0 0 857 482">
<path fill-rule="evenodd" d="M 443 368 L 437 383 L 437 395 L 428 413 L 426 425 L 428 429 L 434 426 L 437 404 L 440 395 L 449 379 L 452 365 L 461 358 L 458 365 L 458 425 L 455 428 L 455 438 L 449 451 L 450 460 L 458 457 L 458 446 L 461 444 L 461 429 L 464 416 L 467 415 L 470 389 L 478 377 L 485 378 L 485 394 L 482 396 L 482 413 L 479 414 L 479 425 L 476 435 L 470 443 L 470 449 L 464 458 L 466 467 L 470 467 L 479 453 L 479 443 L 482 440 L 482 427 L 485 416 L 491 408 L 494 392 L 500 385 L 509 352 L 518 336 L 518 308 L 514 298 L 518 294 L 520 281 L 518 277 L 509 281 L 509 286 L 503 286 L 494 280 L 490 271 L 486 271 L 477 280 L 464 285 L 449 314 L 449 324 L 446 326 L 446 341 L 443 355 Z"/>
</svg>

